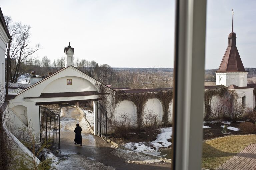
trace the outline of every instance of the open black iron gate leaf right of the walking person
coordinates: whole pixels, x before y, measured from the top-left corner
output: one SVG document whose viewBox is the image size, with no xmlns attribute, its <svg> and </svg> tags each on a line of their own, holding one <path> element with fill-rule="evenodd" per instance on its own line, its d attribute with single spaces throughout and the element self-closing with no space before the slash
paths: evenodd
<svg viewBox="0 0 256 170">
<path fill-rule="evenodd" d="M 100 104 L 97 103 L 97 110 L 98 110 L 98 135 L 107 141 L 108 133 L 107 133 L 107 111 L 105 108 Z"/>
</svg>

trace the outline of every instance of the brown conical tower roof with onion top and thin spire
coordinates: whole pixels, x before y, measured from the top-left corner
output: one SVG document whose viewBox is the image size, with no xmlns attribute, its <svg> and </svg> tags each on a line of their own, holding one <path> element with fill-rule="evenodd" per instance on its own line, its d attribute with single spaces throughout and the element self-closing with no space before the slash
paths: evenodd
<svg viewBox="0 0 256 170">
<path fill-rule="evenodd" d="M 244 65 L 236 47 L 236 33 L 233 32 L 234 15 L 232 16 L 232 32 L 228 36 L 228 47 L 220 63 L 217 73 L 245 72 Z"/>
</svg>

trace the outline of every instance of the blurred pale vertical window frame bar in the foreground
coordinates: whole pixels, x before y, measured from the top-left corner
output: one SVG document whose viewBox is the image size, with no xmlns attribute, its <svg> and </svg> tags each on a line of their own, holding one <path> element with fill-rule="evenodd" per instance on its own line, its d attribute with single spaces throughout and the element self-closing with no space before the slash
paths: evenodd
<svg viewBox="0 0 256 170">
<path fill-rule="evenodd" d="M 173 170 L 202 159 L 206 0 L 176 0 Z"/>
</svg>

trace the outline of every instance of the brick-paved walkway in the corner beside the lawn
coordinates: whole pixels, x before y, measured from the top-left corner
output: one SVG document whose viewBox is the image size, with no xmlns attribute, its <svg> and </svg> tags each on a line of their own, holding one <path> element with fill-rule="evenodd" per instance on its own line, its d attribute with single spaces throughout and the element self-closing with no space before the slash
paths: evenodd
<svg viewBox="0 0 256 170">
<path fill-rule="evenodd" d="M 216 170 L 255 170 L 256 144 L 250 144 Z"/>
</svg>

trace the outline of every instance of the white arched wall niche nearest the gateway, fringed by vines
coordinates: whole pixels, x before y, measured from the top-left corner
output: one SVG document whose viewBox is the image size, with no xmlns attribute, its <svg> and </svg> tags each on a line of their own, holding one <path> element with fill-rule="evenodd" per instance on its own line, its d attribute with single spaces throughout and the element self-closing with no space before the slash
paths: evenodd
<svg viewBox="0 0 256 170">
<path fill-rule="evenodd" d="M 118 102 L 114 112 L 114 119 L 120 121 L 120 115 L 127 114 L 132 121 L 132 126 L 137 126 L 137 108 L 135 104 L 131 101 L 124 100 Z"/>
</svg>

